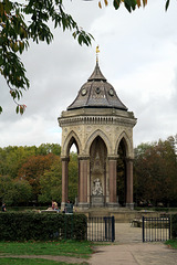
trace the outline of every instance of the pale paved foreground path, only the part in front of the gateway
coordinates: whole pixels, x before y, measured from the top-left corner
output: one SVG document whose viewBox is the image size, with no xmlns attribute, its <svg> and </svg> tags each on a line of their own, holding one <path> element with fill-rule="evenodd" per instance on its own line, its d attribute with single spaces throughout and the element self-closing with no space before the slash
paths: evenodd
<svg viewBox="0 0 177 265">
<path fill-rule="evenodd" d="M 96 247 L 92 265 L 176 265 L 177 251 L 163 243 L 136 243 Z"/>
</svg>

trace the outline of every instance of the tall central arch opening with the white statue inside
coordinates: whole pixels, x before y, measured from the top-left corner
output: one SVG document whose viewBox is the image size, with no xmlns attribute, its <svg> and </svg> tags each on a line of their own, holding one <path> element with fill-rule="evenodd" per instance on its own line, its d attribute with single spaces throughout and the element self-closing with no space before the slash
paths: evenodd
<svg viewBox="0 0 177 265">
<path fill-rule="evenodd" d="M 92 206 L 104 206 L 107 194 L 107 148 L 96 136 L 90 148 L 90 197 Z"/>
</svg>

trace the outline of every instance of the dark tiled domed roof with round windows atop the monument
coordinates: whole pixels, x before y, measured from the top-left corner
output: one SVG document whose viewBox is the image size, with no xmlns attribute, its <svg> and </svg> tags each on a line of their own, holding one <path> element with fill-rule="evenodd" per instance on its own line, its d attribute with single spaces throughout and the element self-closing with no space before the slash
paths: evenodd
<svg viewBox="0 0 177 265">
<path fill-rule="evenodd" d="M 67 107 L 67 110 L 95 107 L 127 110 L 127 107 L 116 95 L 114 87 L 107 83 L 106 78 L 102 74 L 97 61 L 91 77 L 81 87 L 77 97 Z"/>
</svg>

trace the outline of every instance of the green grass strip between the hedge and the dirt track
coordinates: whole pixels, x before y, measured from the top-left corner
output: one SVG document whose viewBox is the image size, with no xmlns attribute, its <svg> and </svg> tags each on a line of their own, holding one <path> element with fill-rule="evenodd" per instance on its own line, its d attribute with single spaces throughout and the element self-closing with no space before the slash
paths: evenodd
<svg viewBox="0 0 177 265">
<path fill-rule="evenodd" d="M 88 258 L 93 253 L 92 245 L 86 241 L 0 242 L 0 255 L 55 255 Z"/>
</svg>

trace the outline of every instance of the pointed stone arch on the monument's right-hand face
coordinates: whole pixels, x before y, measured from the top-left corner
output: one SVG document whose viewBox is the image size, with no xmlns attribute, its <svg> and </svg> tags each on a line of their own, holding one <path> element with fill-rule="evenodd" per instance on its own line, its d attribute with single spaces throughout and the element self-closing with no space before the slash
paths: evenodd
<svg viewBox="0 0 177 265">
<path fill-rule="evenodd" d="M 121 140 L 123 140 L 123 142 L 124 142 L 125 150 L 126 150 L 126 157 L 127 158 L 132 157 L 131 155 L 133 153 L 133 146 L 132 146 L 132 141 L 131 141 L 129 137 L 127 136 L 127 134 L 125 132 L 125 130 L 118 136 L 118 138 L 116 140 L 115 153 L 117 153 Z"/>
</svg>

